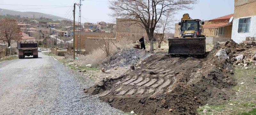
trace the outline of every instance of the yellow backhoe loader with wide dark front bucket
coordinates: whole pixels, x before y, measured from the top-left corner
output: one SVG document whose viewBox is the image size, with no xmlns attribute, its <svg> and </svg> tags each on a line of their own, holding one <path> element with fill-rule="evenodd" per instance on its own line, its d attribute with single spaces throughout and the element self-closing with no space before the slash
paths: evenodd
<svg viewBox="0 0 256 115">
<path fill-rule="evenodd" d="M 204 56 L 205 36 L 202 35 L 204 21 L 192 19 L 189 14 L 181 18 L 179 37 L 169 38 L 169 54 Z"/>
</svg>

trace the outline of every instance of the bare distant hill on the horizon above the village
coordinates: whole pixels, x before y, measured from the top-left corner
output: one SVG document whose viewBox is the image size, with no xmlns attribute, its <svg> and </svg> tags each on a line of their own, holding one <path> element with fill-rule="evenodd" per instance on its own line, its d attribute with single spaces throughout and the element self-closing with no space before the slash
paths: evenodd
<svg viewBox="0 0 256 115">
<path fill-rule="evenodd" d="M 21 17 L 28 17 L 28 18 L 33 18 L 35 15 L 35 18 L 46 17 L 46 18 L 52 18 L 53 20 L 58 20 L 58 19 L 68 20 L 66 18 L 62 18 L 59 16 L 51 15 L 51 14 L 40 13 L 40 12 L 32 12 L 32 11 L 21 12 L 21 11 L 13 11 L 13 10 L 6 10 L 6 9 L 0 8 L 0 15 L 6 16 L 6 14 L 20 15 Z"/>
</svg>

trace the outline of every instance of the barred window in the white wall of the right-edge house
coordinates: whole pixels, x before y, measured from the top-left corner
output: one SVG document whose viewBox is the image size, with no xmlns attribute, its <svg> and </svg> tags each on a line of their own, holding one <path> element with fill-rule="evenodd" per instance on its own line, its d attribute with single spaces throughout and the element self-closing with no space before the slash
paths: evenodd
<svg viewBox="0 0 256 115">
<path fill-rule="evenodd" d="M 250 31 L 251 18 L 239 19 L 238 33 L 248 33 Z"/>
</svg>

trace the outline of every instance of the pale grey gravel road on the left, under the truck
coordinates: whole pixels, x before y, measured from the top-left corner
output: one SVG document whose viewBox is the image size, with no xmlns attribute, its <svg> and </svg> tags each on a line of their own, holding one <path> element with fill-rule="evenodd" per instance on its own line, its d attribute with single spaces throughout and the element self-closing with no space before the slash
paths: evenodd
<svg viewBox="0 0 256 115">
<path fill-rule="evenodd" d="M 0 114 L 121 115 L 83 88 L 94 82 L 41 52 L 0 63 Z"/>
</svg>

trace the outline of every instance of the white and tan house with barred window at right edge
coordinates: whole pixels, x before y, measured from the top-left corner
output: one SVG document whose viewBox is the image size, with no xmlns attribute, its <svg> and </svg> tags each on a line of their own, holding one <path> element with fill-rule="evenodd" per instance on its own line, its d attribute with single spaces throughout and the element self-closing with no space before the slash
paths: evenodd
<svg viewBox="0 0 256 115">
<path fill-rule="evenodd" d="M 235 0 L 232 40 L 256 37 L 256 0 Z"/>
</svg>

